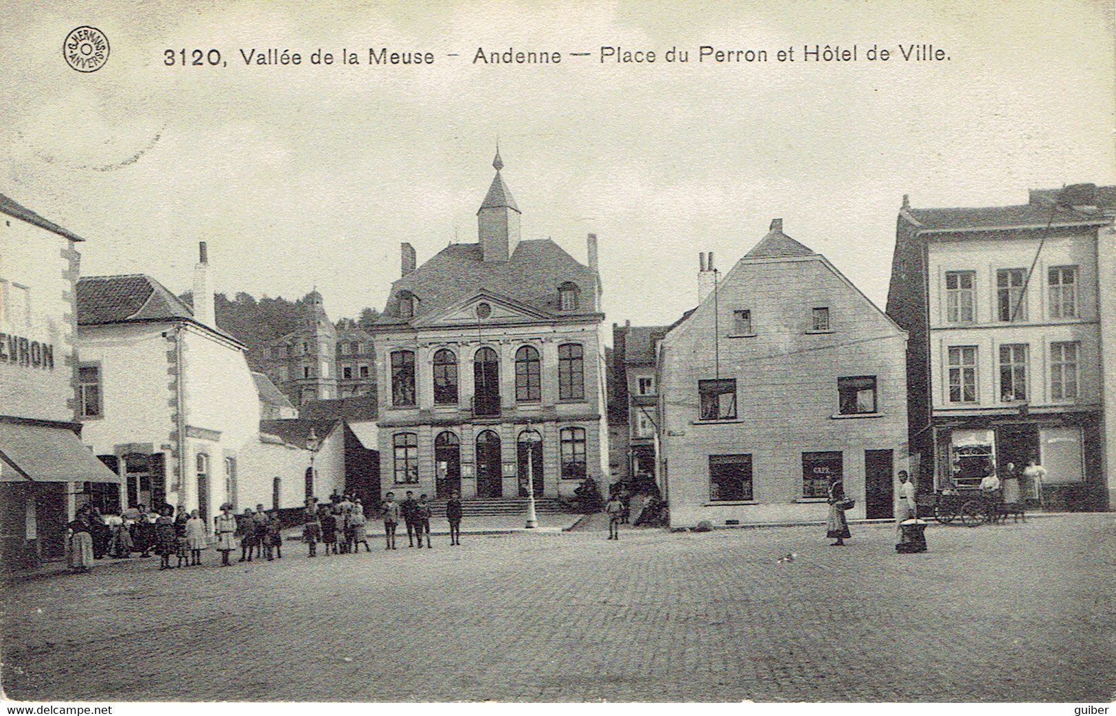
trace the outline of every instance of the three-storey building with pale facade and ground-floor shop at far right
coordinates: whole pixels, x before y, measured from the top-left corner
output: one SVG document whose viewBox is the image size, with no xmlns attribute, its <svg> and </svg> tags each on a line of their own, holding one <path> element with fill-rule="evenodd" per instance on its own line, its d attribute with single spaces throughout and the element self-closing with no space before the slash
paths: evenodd
<svg viewBox="0 0 1116 716">
<path fill-rule="evenodd" d="M 887 312 L 911 332 L 912 454 L 926 491 L 1035 459 L 1047 475 L 1041 493 L 1027 485 L 1032 504 L 1107 509 L 1116 234 L 1105 196 L 1112 187 L 1088 184 L 1012 206 L 903 197 Z"/>
</svg>

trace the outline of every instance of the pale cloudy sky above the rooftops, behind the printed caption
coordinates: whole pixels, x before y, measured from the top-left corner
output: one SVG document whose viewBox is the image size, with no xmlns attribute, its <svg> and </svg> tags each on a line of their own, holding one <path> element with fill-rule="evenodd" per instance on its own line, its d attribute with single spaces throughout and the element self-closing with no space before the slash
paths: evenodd
<svg viewBox="0 0 1116 716">
<path fill-rule="evenodd" d="M 334 319 L 383 308 L 401 242 L 422 262 L 477 241 L 498 142 L 522 238 L 585 261 L 595 232 L 606 321 L 633 325 L 692 308 L 698 253 L 727 272 L 775 217 L 883 308 L 904 194 L 990 206 L 1116 183 L 1105 1 L 56 6 L 0 8 L 0 193 L 86 239 L 84 275 L 182 292 L 206 241 L 218 291 L 317 287 Z M 62 57 L 79 26 L 109 40 L 93 72 Z M 857 59 L 804 57 L 827 45 Z M 911 45 L 947 59 L 905 60 Z M 617 46 L 655 61 L 602 58 Z M 699 61 L 702 46 L 768 57 Z M 434 61 L 371 64 L 385 47 Z M 195 48 L 203 65 L 181 66 Z M 267 48 L 301 64 L 246 65 Z M 310 64 L 319 49 L 334 65 Z"/>
</svg>

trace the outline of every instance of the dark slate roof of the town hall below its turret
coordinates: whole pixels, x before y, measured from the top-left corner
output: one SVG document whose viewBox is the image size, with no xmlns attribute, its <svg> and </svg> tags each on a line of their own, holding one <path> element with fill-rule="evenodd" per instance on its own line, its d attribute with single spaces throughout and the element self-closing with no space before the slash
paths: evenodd
<svg viewBox="0 0 1116 716">
<path fill-rule="evenodd" d="M 596 272 L 578 263 L 550 239 L 520 241 L 504 262 L 485 262 L 479 243 L 451 244 L 421 267 L 395 281 L 381 326 L 404 325 L 400 318 L 400 293 L 417 299 L 415 318 L 448 308 L 487 291 L 547 313 L 558 312 L 558 288 L 577 286 L 581 296 L 578 313 L 593 313 L 596 306 Z"/>
</svg>

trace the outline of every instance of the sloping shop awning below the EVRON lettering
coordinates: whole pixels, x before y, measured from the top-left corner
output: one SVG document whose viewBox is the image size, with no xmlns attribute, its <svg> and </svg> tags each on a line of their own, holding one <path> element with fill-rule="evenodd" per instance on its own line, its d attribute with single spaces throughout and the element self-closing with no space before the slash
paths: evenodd
<svg viewBox="0 0 1116 716">
<path fill-rule="evenodd" d="M 61 427 L 0 423 L 0 482 L 121 482 Z"/>
</svg>

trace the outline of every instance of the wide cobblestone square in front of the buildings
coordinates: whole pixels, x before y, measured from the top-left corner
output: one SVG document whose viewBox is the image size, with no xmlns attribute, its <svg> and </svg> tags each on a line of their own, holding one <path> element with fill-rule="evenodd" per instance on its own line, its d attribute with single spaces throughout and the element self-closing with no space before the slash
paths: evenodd
<svg viewBox="0 0 1116 716">
<path fill-rule="evenodd" d="M 9 584 L 17 699 L 1108 702 L 1116 517 L 464 535 Z M 795 554 L 790 561 L 780 557 Z"/>
</svg>

